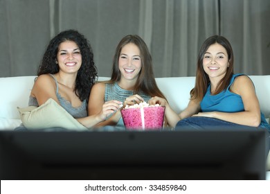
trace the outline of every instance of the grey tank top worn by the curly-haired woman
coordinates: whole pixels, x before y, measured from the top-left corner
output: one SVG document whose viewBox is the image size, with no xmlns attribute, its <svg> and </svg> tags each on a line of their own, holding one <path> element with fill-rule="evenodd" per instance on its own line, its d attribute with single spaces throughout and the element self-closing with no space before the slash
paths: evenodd
<svg viewBox="0 0 270 194">
<path fill-rule="evenodd" d="M 71 105 L 71 102 L 68 100 L 64 99 L 59 93 L 58 93 L 58 83 L 56 78 L 50 74 L 53 79 L 55 80 L 55 85 L 56 85 L 56 96 L 57 99 L 59 100 L 60 105 L 66 110 L 66 112 L 69 112 L 71 116 L 74 118 L 83 118 L 87 116 L 87 100 L 82 101 L 82 105 L 80 107 L 73 107 Z M 28 101 L 29 106 L 39 106 L 37 103 L 37 98 L 33 96 L 29 96 L 29 101 Z"/>
</svg>

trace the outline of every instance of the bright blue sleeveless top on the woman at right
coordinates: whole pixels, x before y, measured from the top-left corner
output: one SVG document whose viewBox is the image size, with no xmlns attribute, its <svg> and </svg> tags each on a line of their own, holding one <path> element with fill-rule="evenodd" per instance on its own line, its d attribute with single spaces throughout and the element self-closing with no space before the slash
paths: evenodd
<svg viewBox="0 0 270 194">
<path fill-rule="evenodd" d="M 238 76 L 243 76 L 244 74 L 234 74 L 231 78 L 231 82 L 227 89 L 220 92 L 217 95 L 211 95 L 210 85 L 206 90 L 204 98 L 201 100 L 201 112 L 243 112 L 244 104 L 240 95 L 235 94 L 230 91 L 231 85 Z M 244 75 L 245 76 L 245 75 Z M 264 114 L 262 112 L 260 127 L 267 128 L 270 130 L 270 125 L 267 123 Z"/>
</svg>

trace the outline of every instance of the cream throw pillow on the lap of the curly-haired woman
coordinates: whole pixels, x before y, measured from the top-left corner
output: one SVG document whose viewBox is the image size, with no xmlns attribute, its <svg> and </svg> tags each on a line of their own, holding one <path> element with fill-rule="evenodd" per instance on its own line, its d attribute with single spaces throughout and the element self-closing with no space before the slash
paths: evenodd
<svg viewBox="0 0 270 194">
<path fill-rule="evenodd" d="M 71 114 L 58 105 L 52 98 L 39 107 L 19 108 L 21 122 L 28 130 L 62 127 L 67 130 L 85 131 L 87 127 L 80 124 Z"/>
</svg>

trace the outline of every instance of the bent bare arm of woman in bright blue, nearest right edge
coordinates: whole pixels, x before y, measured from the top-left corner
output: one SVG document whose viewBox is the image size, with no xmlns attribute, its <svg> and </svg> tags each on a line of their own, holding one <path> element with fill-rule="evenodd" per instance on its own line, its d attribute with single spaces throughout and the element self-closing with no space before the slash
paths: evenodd
<svg viewBox="0 0 270 194">
<path fill-rule="evenodd" d="M 247 76 L 237 77 L 231 86 L 231 92 L 242 97 L 244 103 L 243 112 L 200 112 L 195 116 L 208 116 L 240 125 L 258 127 L 260 125 L 260 104 L 250 78 Z"/>
</svg>

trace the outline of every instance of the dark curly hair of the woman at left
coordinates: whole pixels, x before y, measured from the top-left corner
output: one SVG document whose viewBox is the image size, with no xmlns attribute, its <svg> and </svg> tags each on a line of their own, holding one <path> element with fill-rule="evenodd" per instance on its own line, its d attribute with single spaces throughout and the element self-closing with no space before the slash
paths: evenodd
<svg viewBox="0 0 270 194">
<path fill-rule="evenodd" d="M 73 41 L 79 48 L 82 54 L 82 66 L 80 67 L 76 82 L 75 82 L 75 94 L 80 100 L 89 100 L 91 87 L 98 79 L 98 71 L 93 61 L 93 51 L 89 41 L 78 33 L 77 30 L 65 30 L 56 35 L 48 44 L 46 51 L 42 58 L 42 64 L 39 66 L 37 76 L 47 73 L 57 73 L 59 71 L 59 65 L 57 61 L 58 47 L 62 42 Z"/>
</svg>

